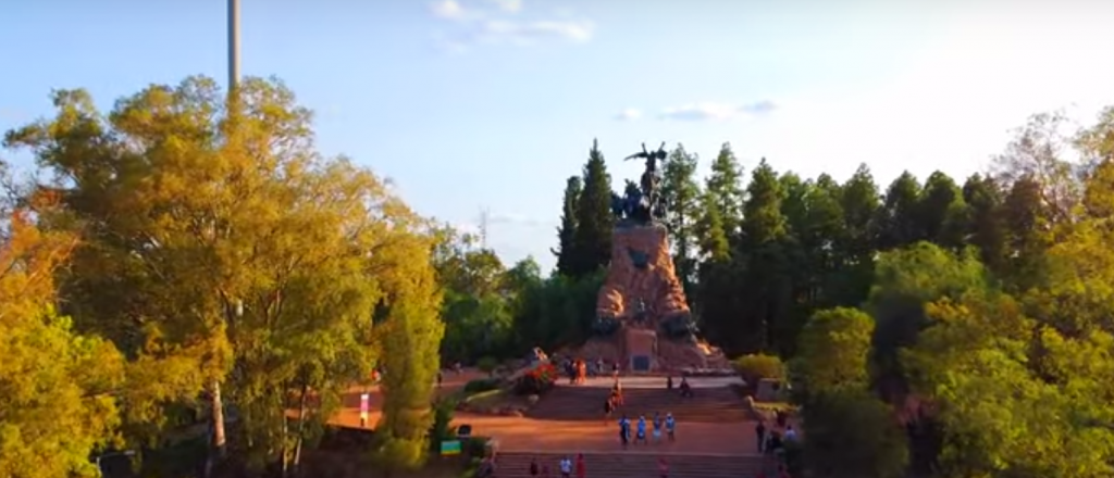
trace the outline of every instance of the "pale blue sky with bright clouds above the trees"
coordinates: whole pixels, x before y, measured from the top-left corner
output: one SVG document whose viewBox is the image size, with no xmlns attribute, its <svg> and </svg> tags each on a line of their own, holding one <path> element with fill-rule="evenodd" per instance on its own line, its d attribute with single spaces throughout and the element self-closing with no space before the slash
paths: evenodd
<svg viewBox="0 0 1114 478">
<path fill-rule="evenodd" d="M 107 108 L 226 78 L 223 0 L 20 3 L 0 14 L 0 129 L 48 113 L 51 88 Z M 546 267 L 593 138 L 616 180 L 643 141 L 703 169 L 730 141 L 747 171 L 866 162 L 885 186 L 979 170 L 1029 113 L 1114 104 L 1114 3 L 1089 0 L 242 0 L 242 18 L 243 73 L 285 80 L 324 152 L 460 227 L 488 209 L 489 245 Z"/>
</svg>

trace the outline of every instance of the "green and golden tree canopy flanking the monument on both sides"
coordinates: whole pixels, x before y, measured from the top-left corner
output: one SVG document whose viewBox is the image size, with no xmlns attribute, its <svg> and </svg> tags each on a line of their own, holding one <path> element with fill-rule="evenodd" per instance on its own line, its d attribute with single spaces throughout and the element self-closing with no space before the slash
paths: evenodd
<svg viewBox="0 0 1114 478">
<path fill-rule="evenodd" d="M 619 187 L 596 141 L 561 179 L 550 272 L 321 155 L 278 80 L 51 99 L 4 135 L 37 175 L 0 167 L 0 475 L 96 476 L 91 457 L 156 447 L 183 409 L 214 460 L 295 470 L 373 369 L 369 455 L 414 468 L 439 367 L 590 333 Z M 788 360 L 815 476 L 1114 475 L 1114 108 L 1064 121 L 1034 116 L 961 180 L 804 178 L 729 143 L 700 178 L 670 152 L 690 307 L 727 355 Z"/>
</svg>

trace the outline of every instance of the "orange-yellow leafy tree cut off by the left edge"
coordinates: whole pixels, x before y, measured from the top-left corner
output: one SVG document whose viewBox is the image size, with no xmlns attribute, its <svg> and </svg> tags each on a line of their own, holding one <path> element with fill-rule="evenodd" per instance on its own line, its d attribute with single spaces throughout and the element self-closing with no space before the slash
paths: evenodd
<svg viewBox="0 0 1114 478">
<path fill-rule="evenodd" d="M 77 333 L 55 305 L 55 273 L 77 243 L 43 232 L 26 210 L 0 233 L 0 476 L 92 477 L 115 444 L 123 357 Z"/>
</svg>

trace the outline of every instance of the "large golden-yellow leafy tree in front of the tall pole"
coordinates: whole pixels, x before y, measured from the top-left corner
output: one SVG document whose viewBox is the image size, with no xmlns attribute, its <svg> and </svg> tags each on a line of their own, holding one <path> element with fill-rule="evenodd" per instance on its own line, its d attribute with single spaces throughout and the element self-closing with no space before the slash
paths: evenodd
<svg viewBox="0 0 1114 478">
<path fill-rule="evenodd" d="M 439 327 L 439 291 L 427 221 L 371 171 L 317 153 L 289 89 L 246 79 L 235 99 L 229 111 L 214 81 L 188 78 L 101 114 L 60 91 L 52 119 L 6 140 L 55 175 L 41 189 L 62 207 L 45 223 L 86 239 L 67 311 L 134 365 L 128 437 L 159 437 L 165 406 L 201 395 L 221 456 L 231 400 L 237 457 L 291 470 L 392 337 L 372 333 L 375 306 Z M 434 367 L 439 330 L 414 348 Z"/>
</svg>

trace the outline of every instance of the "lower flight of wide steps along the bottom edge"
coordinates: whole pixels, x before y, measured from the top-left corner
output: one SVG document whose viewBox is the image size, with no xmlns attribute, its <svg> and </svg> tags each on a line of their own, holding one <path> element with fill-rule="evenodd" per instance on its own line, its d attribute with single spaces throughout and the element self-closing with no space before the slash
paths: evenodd
<svg viewBox="0 0 1114 478">
<path fill-rule="evenodd" d="M 499 454 L 496 461 L 496 478 L 531 478 L 530 460 L 538 466 L 549 466 L 550 478 L 560 478 L 559 462 L 568 457 L 574 464 L 575 455 L 559 454 Z M 659 476 L 656 454 L 584 454 L 587 478 L 653 478 Z M 670 465 L 670 477 L 676 478 L 751 478 L 763 468 L 761 457 L 710 456 L 710 455 L 664 455 Z"/>
</svg>

